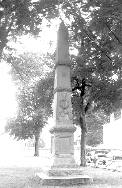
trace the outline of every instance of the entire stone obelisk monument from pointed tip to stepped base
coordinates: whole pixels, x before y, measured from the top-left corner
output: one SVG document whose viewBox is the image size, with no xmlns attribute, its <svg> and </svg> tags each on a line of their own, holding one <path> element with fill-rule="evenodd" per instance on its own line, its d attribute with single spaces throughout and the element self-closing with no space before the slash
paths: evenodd
<svg viewBox="0 0 122 188">
<path fill-rule="evenodd" d="M 83 176 L 74 160 L 74 131 L 71 103 L 71 62 L 69 58 L 68 30 L 61 22 L 55 59 L 52 134 L 53 163 L 45 175 L 38 173 L 41 185 L 75 185 L 91 181 Z"/>
</svg>

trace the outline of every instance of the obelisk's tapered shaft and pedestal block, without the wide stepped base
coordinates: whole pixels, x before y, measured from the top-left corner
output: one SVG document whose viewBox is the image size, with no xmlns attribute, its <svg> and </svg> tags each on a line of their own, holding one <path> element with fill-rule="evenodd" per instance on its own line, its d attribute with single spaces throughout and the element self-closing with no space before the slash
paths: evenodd
<svg viewBox="0 0 122 188">
<path fill-rule="evenodd" d="M 57 37 L 53 119 L 53 167 L 74 167 L 74 131 L 71 103 L 68 31 L 62 22 Z"/>
</svg>

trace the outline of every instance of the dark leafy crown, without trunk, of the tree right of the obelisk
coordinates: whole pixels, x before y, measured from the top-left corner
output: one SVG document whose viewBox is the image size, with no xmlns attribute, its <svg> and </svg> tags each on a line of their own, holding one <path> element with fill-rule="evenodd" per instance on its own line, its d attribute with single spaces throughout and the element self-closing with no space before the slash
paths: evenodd
<svg viewBox="0 0 122 188">
<path fill-rule="evenodd" d="M 107 113 L 121 108 L 122 45 L 117 30 L 121 33 L 122 24 L 115 16 L 120 14 L 120 4 L 120 1 L 88 1 L 80 8 L 90 18 L 84 19 L 79 8 L 72 22 L 72 38 L 78 49 L 78 56 L 72 56 L 73 76 L 77 75 L 79 82 L 85 78 L 91 84 L 88 102 L 94 102 Z"/>
</svg>

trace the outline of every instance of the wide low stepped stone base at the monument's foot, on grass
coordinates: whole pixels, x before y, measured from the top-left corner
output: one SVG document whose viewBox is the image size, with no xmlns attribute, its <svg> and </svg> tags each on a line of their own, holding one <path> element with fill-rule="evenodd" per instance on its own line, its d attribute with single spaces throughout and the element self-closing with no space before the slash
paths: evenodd
<svg viewBox="0 0 122 188">
<path fill-rule="evenodd" d="M 36 181 L 40 186 L 72 186 L 90 184 L 93 180 L 81 168 L 57 168 L 37 173 Z"/>
</svg>

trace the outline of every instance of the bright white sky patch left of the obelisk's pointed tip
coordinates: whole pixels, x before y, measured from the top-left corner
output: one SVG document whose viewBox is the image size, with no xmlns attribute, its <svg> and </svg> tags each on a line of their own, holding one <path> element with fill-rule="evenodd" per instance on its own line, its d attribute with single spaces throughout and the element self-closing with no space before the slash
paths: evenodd
<svg viewBox="0 0 122 188">
<path fill-rule="evenodd" d="M 47 24 L 48 23 L 46 20 L 42 22 L 42 31 L 40 32 L 39 37 L 34 38 L 32 36 L 29 37 L 29 35 L 25 35 L 22 37 L 18 37 L 17 43 L 11 43 L 11 45 L 13 45 L 17 49 L 17 53 L 53 53 L 56 48 L 59 20 L 55 20 L 55 22 L 50 26 L 50 28 L 46 26 Z"/>
</svg>

